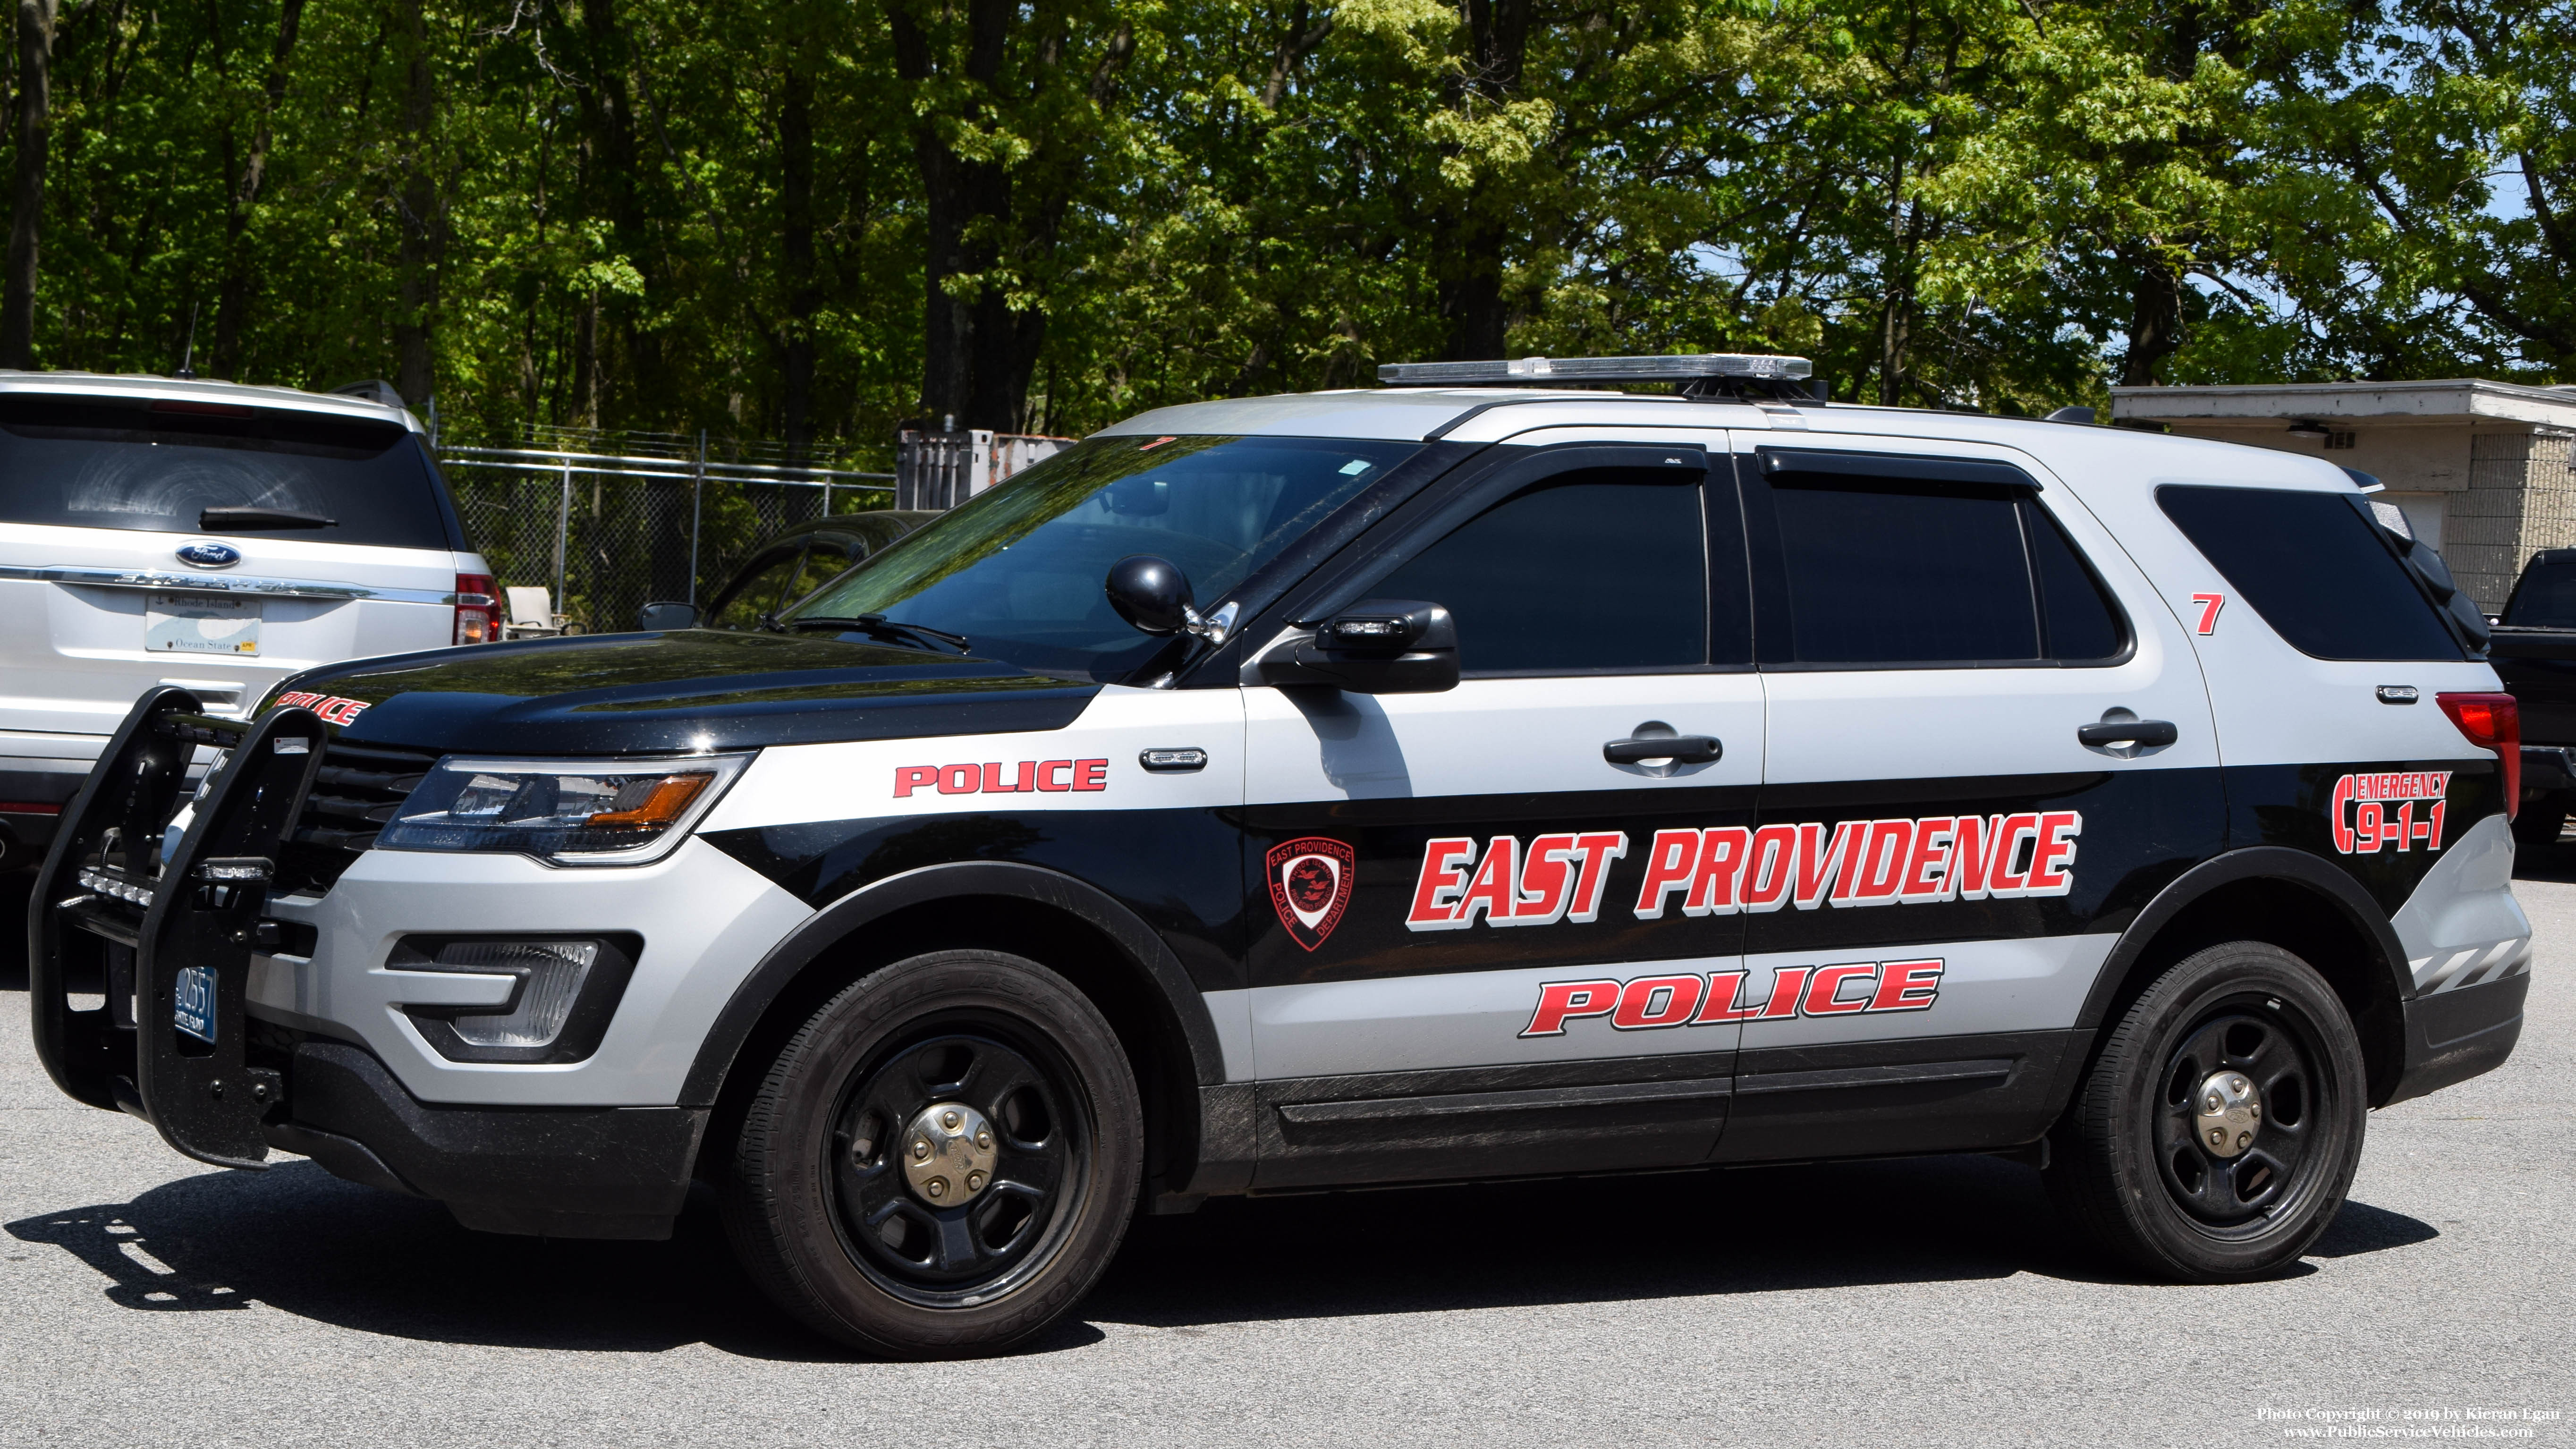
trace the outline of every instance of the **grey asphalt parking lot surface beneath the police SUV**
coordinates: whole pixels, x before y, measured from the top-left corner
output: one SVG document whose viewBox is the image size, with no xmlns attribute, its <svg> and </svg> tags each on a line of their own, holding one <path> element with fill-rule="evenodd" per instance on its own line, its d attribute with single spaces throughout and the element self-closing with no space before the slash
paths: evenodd
<svg viewBox="0 0 2576 1449">
<path fill-rule="evenodd" d="M 974 1364 L 848 1361 L 703 1207 L 538 1243 L 188 1163 L 46 1083 L 10 951 L 0 1444 L 2275 1444 L 2308 1410 L 2566 1444 L 2576 846 L 2527 877 L 2514 1060 L 2375 1114 L 2275 1281 L 2105 1274 L 1991 1158 L 1376 1191 L 1151 1220 L 1036 1351 Z"/>
</svg>

